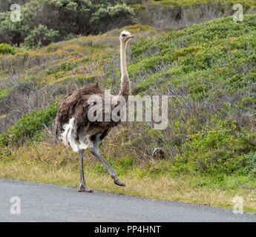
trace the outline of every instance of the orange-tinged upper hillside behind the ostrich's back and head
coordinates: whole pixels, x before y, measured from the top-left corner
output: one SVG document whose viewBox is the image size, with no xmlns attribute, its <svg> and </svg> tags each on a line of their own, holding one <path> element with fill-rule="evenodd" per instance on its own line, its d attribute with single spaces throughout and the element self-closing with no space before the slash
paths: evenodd
<svg viewBox="0 0 256 237">
<path fill-rule="evenodd" d="M 164 33 L 140 25 L 126 29 L 135 34 L 134 41 Z M 118 37 L 119 30 L 112 30 L 99 37 L 82 37 L 40 50 L 18 50 L 15 56 L 1 56 L 0 116 L 4 116 L 4 125 L 0 124 L 0 131 L 15 124 L 21 115 L 53 104 L 76 87 L 96 80 L 102 81 L 103 87 L 116 87 L 119 83 Z"/>
</svg>

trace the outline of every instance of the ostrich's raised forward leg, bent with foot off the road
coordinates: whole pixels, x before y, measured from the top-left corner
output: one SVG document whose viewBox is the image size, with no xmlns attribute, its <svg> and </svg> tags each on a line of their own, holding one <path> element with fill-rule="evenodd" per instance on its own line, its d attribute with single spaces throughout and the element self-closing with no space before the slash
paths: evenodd
<svg viewBox="0 0 256 237">
<path fill-rule="evenodd" d="M 110 173 L 111 178 L 114 179 L 114 183 L 119 186 L 125 186 L 121 181 L 119 181 L 119 178 L 116 175 L 116 171 L 108 164 L 108 162 L 99 154 L 98 144 L 99 144 L 99 136 L 100 134 L 96 135 L 95 141 L 93 142 L 93 148 L 91 148 L 91 153 L 93 156 L 96 156 L 96 158 L 99 158 L 99 161 L 102 162 L 104 167 L 108 170 L 108 173 Z"/>
</svg>

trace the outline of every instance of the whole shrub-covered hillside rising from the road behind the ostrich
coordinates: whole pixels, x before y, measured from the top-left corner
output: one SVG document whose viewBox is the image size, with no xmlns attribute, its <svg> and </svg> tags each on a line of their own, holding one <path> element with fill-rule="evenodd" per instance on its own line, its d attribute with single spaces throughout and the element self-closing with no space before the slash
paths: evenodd
<svg viewBox="0 0 256 237">
<path fill-rule="evenodd" d="M 113 130 L 101 150 L 127 187 L 114 187 L 88 153 L 85 167 L 91 187 L 225 207 L 232 207 L 234 196 L 243 196 L 248 210 L 256 210 L 255 18 L 246 16 L 243 23 L 216 19 L 153 40 L 146 38 L 163 33 L 128 27 L 137 36 L 128 53 L 133 92 L 172 96 L 168 129 L 154 131 L 151 124 L 136 123 Z M 114 30 L 4 56 L 2 94 L 6 97 L 5 87 L 10 95 L 15 90 L 8 84 L 10 73 L 39 90 L 47 87 L 48 95 L 54 92 L 46 105 L 61 98 L 65 88 L 76 87 L 73 81 L 82 85 L 100 79 L 116 93 L 118 34 Z M 248 114 L 252 116 L 244 116 Z M 45 130 L 35 136 L 29 127 L 19 134 L 33 135 L 33 142 L 19 149 L 1 148 L 0 176 L 76 186 L 76 154 L 52 145 Z M 163 147 L 166 161 L 148 158 L 154 147 Z"/>
</svg>

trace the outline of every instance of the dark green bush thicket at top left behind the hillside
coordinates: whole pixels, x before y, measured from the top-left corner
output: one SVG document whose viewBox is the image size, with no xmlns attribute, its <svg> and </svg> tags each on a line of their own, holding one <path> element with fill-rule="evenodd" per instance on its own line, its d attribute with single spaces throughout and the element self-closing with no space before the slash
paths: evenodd
<svg viewBox="0 0 256 237">
<path fill-rule="evenodd" d="M 29 47 L 45 46 L 73 36 L 102 33 L 134 22 L 129 5 L 140 1 L 30 0 L 22 5 L 22 21 L 0 13 L 0 40 Z"/>
</svg>

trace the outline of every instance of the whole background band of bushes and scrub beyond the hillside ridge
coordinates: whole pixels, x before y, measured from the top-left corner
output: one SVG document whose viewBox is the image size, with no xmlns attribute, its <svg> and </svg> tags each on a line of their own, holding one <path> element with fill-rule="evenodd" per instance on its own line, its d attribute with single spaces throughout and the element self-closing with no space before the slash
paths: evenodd
<svg viewBox="0 0 256 237">
<path fill-rule="evenodd" d="M 21 6 L 21 21 L 10 21 L 13 3 Z M 234 4 L 243 4 L 245 14 L 256 13 L 255 0 L 7 0 L 0 3 L 0 43 L 42 47 L 137 23 L 182 29 L 230 16 Z"/>
</svg>

